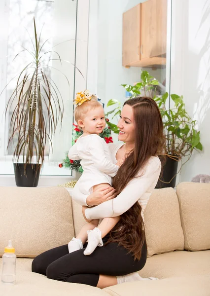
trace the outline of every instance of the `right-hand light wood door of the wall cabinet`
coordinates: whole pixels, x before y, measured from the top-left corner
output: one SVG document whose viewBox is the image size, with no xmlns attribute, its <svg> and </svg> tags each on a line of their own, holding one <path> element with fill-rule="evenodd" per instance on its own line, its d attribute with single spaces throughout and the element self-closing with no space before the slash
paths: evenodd
<svg viewBox="0 0 210 296">
<path fill-rule="evenodd" d="M 167 0 L 141 3 L 140 30 L 140 59 L 165 56 Z"/>
</svg>

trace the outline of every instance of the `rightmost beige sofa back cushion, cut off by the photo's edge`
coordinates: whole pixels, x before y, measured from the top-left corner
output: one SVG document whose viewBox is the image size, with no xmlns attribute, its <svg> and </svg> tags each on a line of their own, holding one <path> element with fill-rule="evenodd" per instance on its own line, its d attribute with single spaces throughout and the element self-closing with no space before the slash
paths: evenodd
<svg viewBox="0 0 210 296">
<path fill-rule="evenodd" d="M 176 188 L 184 248 L 189 251 L 210 249 L 210 184 L 181 183 Z"/>
</svg>

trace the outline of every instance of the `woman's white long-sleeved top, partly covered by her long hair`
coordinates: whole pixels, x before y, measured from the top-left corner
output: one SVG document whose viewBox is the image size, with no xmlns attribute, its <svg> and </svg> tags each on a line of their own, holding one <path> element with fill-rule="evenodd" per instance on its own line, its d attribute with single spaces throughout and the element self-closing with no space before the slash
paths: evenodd
<svg viewBox="0 0 210 296">
<path fill-rule="evenodd" d="M 116 160 L 116 153 L 123 144 L 108 144 L 111 152 L 112 161 Z M 117 217 L 128 211 L 137 201 L 139 201 L 143 212 L 149 197 L 155 188 L 161 172 L 161 162 L 156 156 L 150 157 L 147 164 L 140 169 L 137 178 L 132 179 L 121 193 L 114 199 L 85 210 L 87 219 L 104 219 L 106 217 Z M 72 198 L 80 205 L 87 205 L 86 198 L 88 195 L 79 194 L 78 190 L 74 191 Z"/>
</svg>

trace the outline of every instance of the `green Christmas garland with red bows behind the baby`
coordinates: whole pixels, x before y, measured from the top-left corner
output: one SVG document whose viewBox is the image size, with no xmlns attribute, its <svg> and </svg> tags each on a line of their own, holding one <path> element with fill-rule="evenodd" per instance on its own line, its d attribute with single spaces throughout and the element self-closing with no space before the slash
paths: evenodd
<svg viewBox="0 0 210 296">
<path fill-rule="evenodd" d="M 106 122 L 108 122 L 108 118 L 106 118 Z M 76 143 L 77 139 L 83 134 L 83 131 L 78 128 L 78 125 L 73 123 L 72 126 L 73 129 L 73 135 L 72 135 L 72 145 Z M 100 137 L 105 139 L 106 143 L 113 143 L 112 137 L 111 137 L 111 130 L 108 126 L 105 127 L 103 132 L 100 134 Z M 72 160 L 68 157 L 68 152 L 66 152 L 66 158 L 63 159 L 63 163 L 59 164 L 59 167 L 69 168 L 70 170 L 75 170 L 76 172 L 79 172 L 82 174 L 83 169 L 80 165 L 80 160 Z"/>
</svg>

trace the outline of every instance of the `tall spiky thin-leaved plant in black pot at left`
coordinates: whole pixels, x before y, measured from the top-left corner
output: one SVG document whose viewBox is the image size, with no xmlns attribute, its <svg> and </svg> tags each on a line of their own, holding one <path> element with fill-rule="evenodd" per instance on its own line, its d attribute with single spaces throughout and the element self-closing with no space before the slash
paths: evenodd
<svg viewBox="0 0 210 296">
<path fill-rule="evenodd" d="M 13 162 L 17 186 L 37 186 L 46 145 L 52 147 L 52 136 L 63 119 L 63 100 L 47 71 L 50 66 L 46 61 L 52 60 L 47 55 L 52 51 L 43 51 L 47 40 L 42 44 L 40 40 L 34 18 L 34 40 L 31 39 L 34 50 L 22 50 L 31 56 L 31 62 L 20 71 L 6 105 L 5 116 L 13 108 L 8 146 L 15 145 Z M 61 62 L 59 54 L 54 53 Z"/>
</svg>

